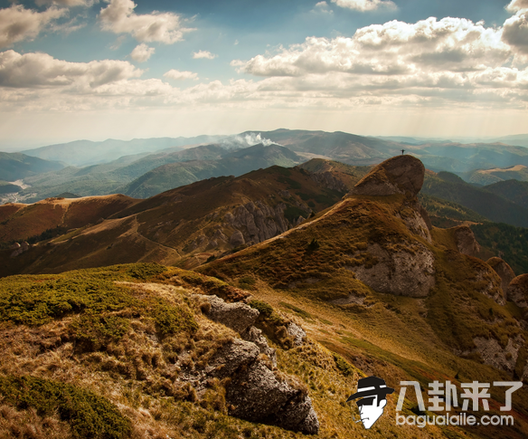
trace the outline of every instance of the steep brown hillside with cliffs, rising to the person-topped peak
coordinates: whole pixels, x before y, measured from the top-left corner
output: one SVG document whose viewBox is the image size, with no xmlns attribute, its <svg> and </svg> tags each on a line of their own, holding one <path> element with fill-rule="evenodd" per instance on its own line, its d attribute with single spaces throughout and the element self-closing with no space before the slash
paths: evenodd
<svg viewBox="0 0 528 439">
<path fill-rule="evenodd" d="M 418 165 L 407 165 L 419 181 Z M 306 223 L 197 271 L 240 285 L 251 281 L 256 297 L 293 310 L 311 337 L 355 367 L 390 377 L 388 385 L 525 381 L 523 310 L 506 302 L 492 266 L 465 254 L 476 248 L 473 234 L 467 227 L 429 229 L 407 190 L 414 185 L 381 167 L 388 174 L 378 167 L 377 176 L 356 185 L 363 195 L 346 196 Z M 373 194 L 380 181 L 395 193 L 365 190 L 371 186 Z M 495 401 L 501 397 L 492 390 Z M 453 434 L 523 437 L 524 398 L 516 397 L 514 428 L 466 426 Z"/>
</svg>

